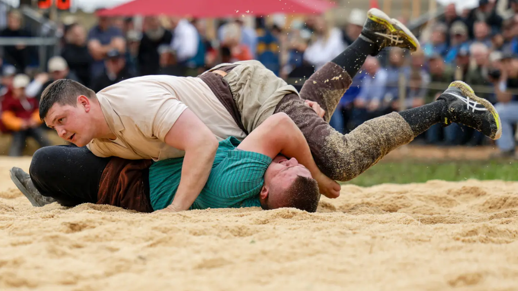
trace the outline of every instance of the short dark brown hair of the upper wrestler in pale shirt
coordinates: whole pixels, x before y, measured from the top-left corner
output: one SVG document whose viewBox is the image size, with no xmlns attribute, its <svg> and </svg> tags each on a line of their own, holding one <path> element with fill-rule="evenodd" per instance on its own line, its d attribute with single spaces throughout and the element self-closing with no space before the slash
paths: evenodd
<svg viewBox="0 0 518 291">
<path fill-rule="evenodd" d="M 76 106 L 77 97 L 87 96 L 89 99 L 96 99 L 97 95 L 92 89 L 80 84 L 79 82 L 60 79 L 52 82 L 41 93 L 39 101 L 39 118 L 44 120 L 47 113 L 54 104 Z"/>
</svg>

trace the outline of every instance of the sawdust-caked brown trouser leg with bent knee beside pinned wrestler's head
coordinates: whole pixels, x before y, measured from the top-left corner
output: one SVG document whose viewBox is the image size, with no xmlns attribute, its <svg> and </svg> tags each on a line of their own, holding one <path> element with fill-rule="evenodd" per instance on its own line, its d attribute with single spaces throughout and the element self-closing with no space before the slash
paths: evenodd
<svg viewBox="0 0 518 291">
<path fill-rule="evenodd" d="M 395 112 L 366 121 L 346 135 L 319 118 L 296 94 L 284 96 L 277 112 L 290 116 L 306 137 L 316 165 L 338 181 L 355 178 L 414 138 L 410 125 Z"/>
</svg>

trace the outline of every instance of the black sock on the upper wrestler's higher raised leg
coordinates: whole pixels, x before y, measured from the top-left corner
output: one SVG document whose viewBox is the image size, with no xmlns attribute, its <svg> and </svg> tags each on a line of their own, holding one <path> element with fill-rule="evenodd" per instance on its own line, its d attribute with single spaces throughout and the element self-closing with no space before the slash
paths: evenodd
<svg viewBox="0 0 518 291">
<path fill-rule="evenodd" d="M 363 66 L 368 55 L 378 52 L 378 46 L 372 40 L 360 35 L 346 50 L 337 55 L 331 62 L 342 67 L 351 78 Z"/>
</svg>

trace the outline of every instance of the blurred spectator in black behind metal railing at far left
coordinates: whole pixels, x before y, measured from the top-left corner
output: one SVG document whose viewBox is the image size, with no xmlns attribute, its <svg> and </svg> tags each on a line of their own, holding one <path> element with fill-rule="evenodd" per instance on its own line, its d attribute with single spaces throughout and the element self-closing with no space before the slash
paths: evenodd
<svg viewBox="0 0 518 291">
<path fill-rule="evenodd" d="M 22 14 L 12 10 L 7 16 L 7 27 L 0 32 L 0 37 L 32 37 L 33 35 L 22 28 Z M 5 46 L 4 63 L 15 66 L 18 72 L 25 68 L 38 65 L 38 54 L 35 47 L 24 45 Z"/>
</svg>

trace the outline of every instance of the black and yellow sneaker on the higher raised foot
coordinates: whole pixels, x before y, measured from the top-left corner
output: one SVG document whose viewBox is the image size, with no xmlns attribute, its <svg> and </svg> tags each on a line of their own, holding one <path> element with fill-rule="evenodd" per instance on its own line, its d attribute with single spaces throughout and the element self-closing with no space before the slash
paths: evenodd
<svg viewBox="0 0 518 291">
<path fill-rule="evenodd" d="M 367 12 L 362 35 L 378 45 L 378 52 L 386 47 L 398 47 L 414 52 L 420 47 L 419 40 L 404 24 L 376 8 Z"/>
</svg>

